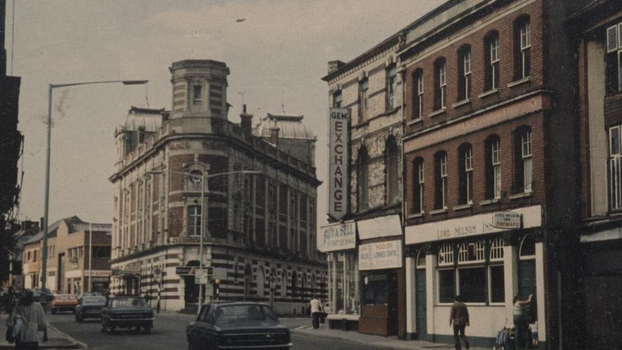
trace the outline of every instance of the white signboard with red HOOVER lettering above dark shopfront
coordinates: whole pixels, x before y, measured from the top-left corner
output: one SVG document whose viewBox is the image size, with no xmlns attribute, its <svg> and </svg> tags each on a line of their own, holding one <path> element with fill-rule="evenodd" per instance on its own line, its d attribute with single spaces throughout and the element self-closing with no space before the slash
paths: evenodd
<svg viewBox="0 0 622 350">
<path fill-rule="evenodd" d="M 358 246 L 358 269 L 379 270 L 402 267 L 402 241 L 361 244 Z"/>
</svg>

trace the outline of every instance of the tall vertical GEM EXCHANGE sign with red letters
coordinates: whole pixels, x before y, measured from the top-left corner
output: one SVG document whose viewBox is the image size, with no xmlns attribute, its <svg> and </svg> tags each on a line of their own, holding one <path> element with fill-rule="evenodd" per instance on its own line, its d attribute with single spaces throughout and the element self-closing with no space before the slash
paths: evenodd
<svg viewBox="0 0 622 350">
<path fill-rule="evenodd" d="M 328 140 L 328 215 L 340 220 L 348 212 L 348 127 L 350 111 L 330 108 Z"/>
</svg>

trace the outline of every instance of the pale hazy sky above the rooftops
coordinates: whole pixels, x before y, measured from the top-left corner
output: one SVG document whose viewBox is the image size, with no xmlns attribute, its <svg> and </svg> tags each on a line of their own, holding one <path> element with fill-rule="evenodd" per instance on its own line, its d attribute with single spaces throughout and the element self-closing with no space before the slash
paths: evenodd
<svg viewBox="0 0 622 350">
<path fill-rule="evenodd" d="M 318 137 L 317 177 L 325 181 L 328 170 L 319 160 L 328 154 L 328 85 L 321 78 L 328 61 L 354 59 L 444 1 L 7 0 L 7 72 L 22 78 L 19 219 L 44 215 L 50 83 L 149 80 L 53 90 L 50 222 L 72 215 L 112 222 L 114 130 L 131 106 L 170 110 L 169 67 L 183 59 L 226 62 L 233 122 L 239 122 L 242 95 L 253 123 L 283 110 L 304 115 Z M 318 226 L 326 211 L 323 184 Z"/>
</svg>

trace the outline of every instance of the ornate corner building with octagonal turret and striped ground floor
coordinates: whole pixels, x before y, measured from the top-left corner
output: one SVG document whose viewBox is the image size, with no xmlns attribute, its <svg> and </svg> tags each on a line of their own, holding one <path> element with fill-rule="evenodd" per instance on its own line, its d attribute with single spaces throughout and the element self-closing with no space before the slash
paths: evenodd
<svg viewBox="0 0 622 350">
<path fill-rule="evenodd" d="M 183 60 L 170 72 L 172 111 L 132 107 L 116 130 L 112 292 L 196 310 L 203 225 L 203 266 L 212 271 L 205 300 L 304 314 L 327 279 L 314 245 L 315 136 L 303 116 L 268 115 L 253 126 L 245 107 L 231 123 L 223 62 Z M 236 171 L 261 173 L 223 174 Z"/>
</svg>

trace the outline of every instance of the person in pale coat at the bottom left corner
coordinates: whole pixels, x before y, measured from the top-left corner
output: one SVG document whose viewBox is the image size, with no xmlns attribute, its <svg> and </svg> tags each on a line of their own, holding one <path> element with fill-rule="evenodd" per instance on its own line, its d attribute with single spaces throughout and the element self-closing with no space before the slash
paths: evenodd
<svg viewBox="0 0 622 350">
<path fill-rule="evenodd" d="M 11 311 L 6 323 L 14 329 L 16 349 L 39 349 L 39 331 L 43 342 L 47 342 L 47 320 L 43 306 L 34 301 L 32 291 L 27 290 Z"/>
</svg>

